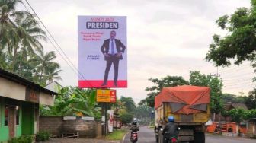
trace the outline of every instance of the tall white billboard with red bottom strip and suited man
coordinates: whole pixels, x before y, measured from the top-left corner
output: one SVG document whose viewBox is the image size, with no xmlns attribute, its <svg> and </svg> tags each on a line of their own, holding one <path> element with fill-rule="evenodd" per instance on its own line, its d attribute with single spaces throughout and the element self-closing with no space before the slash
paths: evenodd
<svg viewBox="0 0 256 143">
<path fill-rule="evenodd" d="M 127 87 L 126 17 L 78 16 L 78 87 Z"/>
</svg>

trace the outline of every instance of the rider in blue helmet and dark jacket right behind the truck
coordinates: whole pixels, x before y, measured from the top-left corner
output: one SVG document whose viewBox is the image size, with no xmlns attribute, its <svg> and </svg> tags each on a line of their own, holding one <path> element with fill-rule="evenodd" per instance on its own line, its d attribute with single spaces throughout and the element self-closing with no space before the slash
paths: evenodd
<svg viewBox="0 0 256 143">
<path fill-rule="evenodd" d="M 174 124 L 174 116 L 168 116 L 168 123 L 165 125 L 162 134 L 166 138 L 165 141 L 169 141 L 171 137 L 178 137 L 178 126 Z"/>
</svg>

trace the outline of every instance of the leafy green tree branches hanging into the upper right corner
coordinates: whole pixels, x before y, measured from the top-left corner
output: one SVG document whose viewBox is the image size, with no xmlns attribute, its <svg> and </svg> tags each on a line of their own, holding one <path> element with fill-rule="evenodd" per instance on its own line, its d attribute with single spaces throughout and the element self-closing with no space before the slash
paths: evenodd
<svg viewBox="0 0 256 143">
<path fill-rule="evenodd" d="M 230 16 L 224 15 L 216 21 L 222 30 L 228 31 L 225 37 L 213 36 L 213 43 L 206 54 L 206 61 L 216 66 L 236 65 L 250 61 L 256 68 L 256 0 L 251 0 L 251 8 L 238 8 Z M 256 71 L 256 69 L 255 69 Z M 254 78 L 254 80 L 256 80 Z"/>
</svg>

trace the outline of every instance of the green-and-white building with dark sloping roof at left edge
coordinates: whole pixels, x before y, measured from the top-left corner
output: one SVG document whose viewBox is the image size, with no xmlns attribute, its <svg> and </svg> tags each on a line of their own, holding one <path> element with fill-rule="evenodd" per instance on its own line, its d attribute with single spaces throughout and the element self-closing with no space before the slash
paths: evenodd
<svg viewBox="0 0 256 143">
<path fill-rule="evenodd" d="M 39 104 L 53 105 L 56 92 L 0 68 L 0 142 L 39 129 Z"/>
</svg>

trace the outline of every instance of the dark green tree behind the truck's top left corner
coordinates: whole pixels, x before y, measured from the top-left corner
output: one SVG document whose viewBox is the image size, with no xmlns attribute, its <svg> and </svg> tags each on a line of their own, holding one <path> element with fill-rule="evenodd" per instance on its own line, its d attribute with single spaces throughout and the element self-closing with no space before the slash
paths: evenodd
<svg viewBox="0 0 256 143">
<path fill-rule="evenodd" d="M 146 104 L 147 106 L 154 107 L 155 106 L 155 96 L 159 94 L 163 87 L 175 87 L 178 85 L 189 84 L 188 81 L 184 80 L 183 77 L 178 76 L 166 76 L 165 78 L 149 78 L 149 81 L 152 81 L 155 85 L 152 87 L 146 87 L 146 91 L 149 92 L 147 94 L 145 100 L 141 100 L 139 105 Z"/>
</svg>

